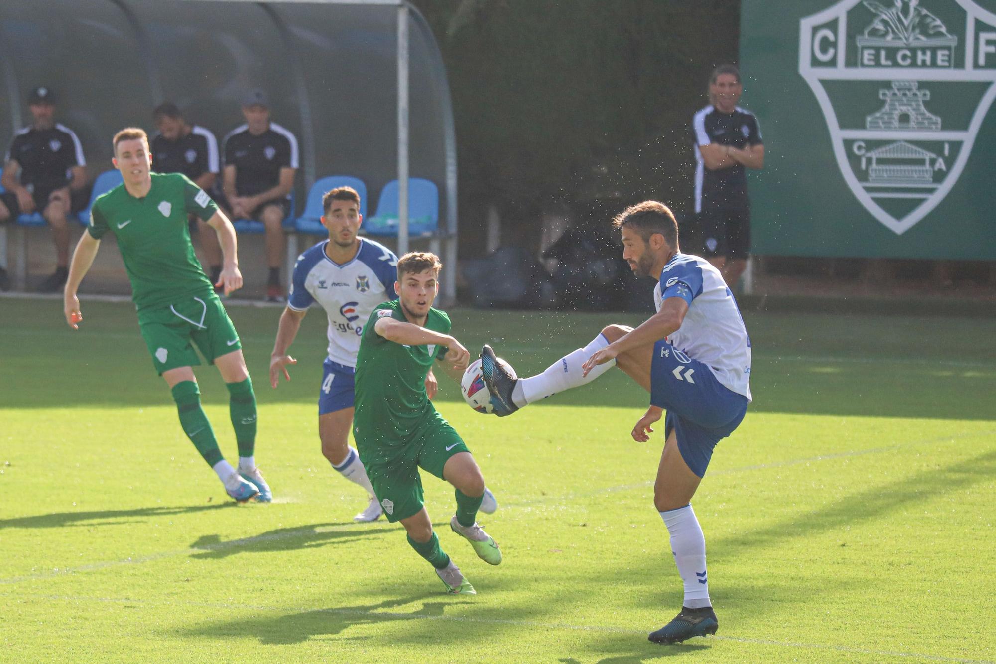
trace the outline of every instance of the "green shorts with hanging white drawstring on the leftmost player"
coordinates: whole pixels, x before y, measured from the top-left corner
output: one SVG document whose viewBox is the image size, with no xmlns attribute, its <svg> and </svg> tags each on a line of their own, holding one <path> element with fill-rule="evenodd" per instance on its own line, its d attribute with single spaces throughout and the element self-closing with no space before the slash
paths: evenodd
<svg viewBox="0 0 996 664">
<path fill-rule="evenodd" d="M 242 348 L 235 326 L 214 293 L 143 309 L 138 312 L 138 327 L 159 375 L 177 367 L 199 365 L 194 344 L 208 364 Z"/>
</svg>

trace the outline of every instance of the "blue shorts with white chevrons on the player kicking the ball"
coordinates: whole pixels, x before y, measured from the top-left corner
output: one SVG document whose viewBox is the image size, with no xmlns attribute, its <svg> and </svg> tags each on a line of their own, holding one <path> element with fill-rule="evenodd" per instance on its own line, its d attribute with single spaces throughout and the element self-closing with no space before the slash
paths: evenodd
<svg viewBox="0 0 996 664">
<path fill-rule="evenodd" d="M 666 341 L 653 345 L 650 404 L 667 410 L 664 435 L 674 431 L 681 458 L 700 478 L 705 476 L 712 449 L 747 414 L 747 397 L 727 388 L 709 367 Z"/>
</svg>

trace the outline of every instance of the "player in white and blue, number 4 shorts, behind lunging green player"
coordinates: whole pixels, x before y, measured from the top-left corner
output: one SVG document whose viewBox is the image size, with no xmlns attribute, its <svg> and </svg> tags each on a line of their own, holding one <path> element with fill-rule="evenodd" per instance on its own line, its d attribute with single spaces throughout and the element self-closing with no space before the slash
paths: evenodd
<svg viewBox="0 0 996 664">
<path fill-rule="evenodd" d="M 349 445 L 354 374 L 364 323 L 378 304 L 397 299 L 397 256 L 382 244 L 359 236 L 363 215 L 360 194 L 353 187 L 332 189 L 323 197 L 322 207 L 322 223 L 329 229 L 329 239 L 302 253 L 294 265 L 287 307 L 280 316 L 270 356 L 270 385 L 276 388 L 281 374 L 291 379 L 287 365 L 297 364 L 297 360 L 287 354 L 288 349 L 308 308 L 317 302 L 329 316 L 329 357 L 318 401 L 322 454 L 344 478 L 367 490 L 367 508 L 354 520 L 373 521 L 383 508 L 373 494 L 360 455 Z M 429 399 L 435 396 L 437 387 L 430 371 L 425 379 Z M 485 489 L 481 510 L 491 513 L 496 508 L 494 496 Z"/>
</svg>

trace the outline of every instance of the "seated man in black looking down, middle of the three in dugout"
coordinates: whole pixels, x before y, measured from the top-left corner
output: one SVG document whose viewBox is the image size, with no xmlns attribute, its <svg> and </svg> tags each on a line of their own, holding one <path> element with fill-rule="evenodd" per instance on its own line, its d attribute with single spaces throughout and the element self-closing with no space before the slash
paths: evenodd
<svg viewBox="0 0 996 664">
<path fill-rule="evenodd" d="M 152 137 L 152 169 L 181 172 L 204 191 L 212 193 L 218 176 L 218 142 L 208 130 L 189 125 L 171 102 L 155 107 L 152 121 L 158 134 Z M 208 278 L 217 283 L 221 273 L 221 246 L 214 229 L 197 219 L 197 232 L 208 265 Z"/>
</svg>

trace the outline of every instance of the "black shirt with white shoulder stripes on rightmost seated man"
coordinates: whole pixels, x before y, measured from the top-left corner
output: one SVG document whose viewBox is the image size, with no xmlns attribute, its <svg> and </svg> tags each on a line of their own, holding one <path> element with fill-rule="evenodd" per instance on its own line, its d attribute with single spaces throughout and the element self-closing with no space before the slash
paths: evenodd
<svg viewBox="0 0 996 664">
<path fill-rule="evenodd" d="M 247 125 L 225 137 L 225 166 L 235 166 L 235 191 L 251 196 L 280 182 L 281 168 L 298 167 L 298 140 L 276 123 L 254 136 Z"/>
</svg>

